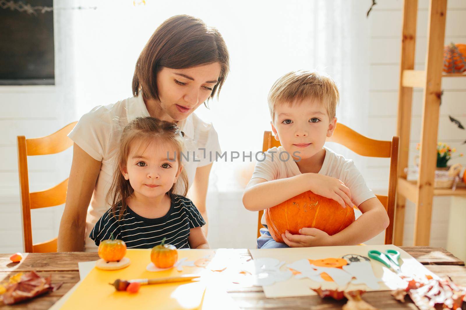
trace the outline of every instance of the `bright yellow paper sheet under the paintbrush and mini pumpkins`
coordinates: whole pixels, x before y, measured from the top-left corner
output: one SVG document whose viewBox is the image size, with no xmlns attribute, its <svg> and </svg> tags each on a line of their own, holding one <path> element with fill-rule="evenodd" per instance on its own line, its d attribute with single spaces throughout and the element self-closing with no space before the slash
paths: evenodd
<svg viewBox="0 0 466 310">
<path fill-rule="evenodd" d="M 206 290 L 203 281 L 143 285 L 137 294 L 117 292 L 109 285 L 116 279 L 158 278 L 206 271 L 204 268 L 186 266 L 183 271 L 176 268 L 147 271 L 146 267 L 151 263 L 150 253 L 150 249 L 129 249 L 126 253 L 126 257 L 131 260 L 128 267 L 111 271 L 94 268 L 81 279 L 81 283 L 61 309 L 200 309 Z M 214 253 L 214 250 L 204 249 L 178 250 L 178 259 L 186 257 L 188 261 L 196 261 Z"/>
</svg>

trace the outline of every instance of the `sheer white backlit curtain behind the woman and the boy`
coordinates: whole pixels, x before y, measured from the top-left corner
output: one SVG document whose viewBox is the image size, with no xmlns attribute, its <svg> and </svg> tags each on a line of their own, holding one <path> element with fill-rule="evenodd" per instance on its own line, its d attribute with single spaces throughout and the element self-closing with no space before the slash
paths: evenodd
<svg viewBox="0 0 466 310">
<path fill-rule="evenodd" d="M 242 206 L 241 195 L 254 162 L 242 152 L 261 150 L 270 130 L 267 94 L 282 74 L 318 70 L 337 82 L 341 105 L 337 117 L 366 132 L 368 107 L 369 1 L 57 1 L 73 10 L 76 115 L 96 105 L 131 96 L 134 65 L 155 28 L 176 14 L 190 14 L 217 27 L 231 56 L 231 72 L 219 101 L 196 113 L 211 121 L 228 162 L 214 163 L 207 209 L 212 248 L 254 248 L 257 213 Z M 93 7 L 96 7 L 95 9 Z M 363 162 L 345 149 L 329 145 Z M 230 162 L 233 151 L 240 158 Z"/>
</svg>

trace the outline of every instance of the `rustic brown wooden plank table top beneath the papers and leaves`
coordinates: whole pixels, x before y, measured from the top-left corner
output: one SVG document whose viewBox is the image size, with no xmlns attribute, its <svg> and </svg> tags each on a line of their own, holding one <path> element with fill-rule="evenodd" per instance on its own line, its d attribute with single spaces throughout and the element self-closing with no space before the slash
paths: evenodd
<svg viewBox="0 0 466 310">
<path fill-rule="evenodd" d="M 466 286 L 464 262 L 442 248 L 401 247 L 425 267 L 439 276 Z M 235 250 L 239 256 L 250 257 L 247 249 Z M 96 252 L 30 253 L 21 263 L 11 263 L 9 254 L 0 254 L 0 279 L 19 271 L 35 270 L 41 276 L 52 275 L 52 283 L 63 282 L 62 287 L 26 303 L 3 306 L 2 309 L 48 309 L 79 281 L 78 262 L 95 261 Z M 241 309 L 341 309 L 344 301 L 321 299 L 317 296 L 266 298 L 260 287 L 242 287 L 231 284 L 230 296 Z M 363 299 L 379 309 L 416 309 L 412 303 L 399 303 L 389 291 L 367 292 Z"/>
</svg>

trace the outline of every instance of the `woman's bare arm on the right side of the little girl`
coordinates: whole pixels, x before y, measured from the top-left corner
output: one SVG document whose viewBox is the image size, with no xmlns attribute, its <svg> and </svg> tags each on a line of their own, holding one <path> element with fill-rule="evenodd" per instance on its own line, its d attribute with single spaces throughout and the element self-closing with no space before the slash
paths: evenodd
<svg viewBox="0 0 466 310">
<path fill-rule="evenodd" d="M 206 197 L 207 188 L 209 187 L 209 175 L 211 169 L 212 163 L 210 165 L 197 168 L 196 175 L 194 176 L 194 182 L 192 183 L 190 189 L 190 198 L 196 206 L 196 208 L 198 208 L 199 212 L 204 218 L 204 221 L 206 221 L 206 225 L 202 226 L 202 230 L 205 236 L 207 236 L 207 230 L 209 225 L 206 209 Z"/>
</svg>

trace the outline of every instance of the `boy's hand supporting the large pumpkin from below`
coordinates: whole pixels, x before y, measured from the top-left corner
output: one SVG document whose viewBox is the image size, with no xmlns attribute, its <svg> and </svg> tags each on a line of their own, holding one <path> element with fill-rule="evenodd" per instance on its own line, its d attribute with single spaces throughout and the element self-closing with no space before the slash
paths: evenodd
<svg viewBox="0 0 466 310">
<path fill-rule="evenodd" d="M 331 245 L 331 236 L 316 228 L 302 228 L 301 235 L 293 235 L 288 230 L 281 234 L 283 241 L 291 248 L 318 247 Z"/>
</svg>

